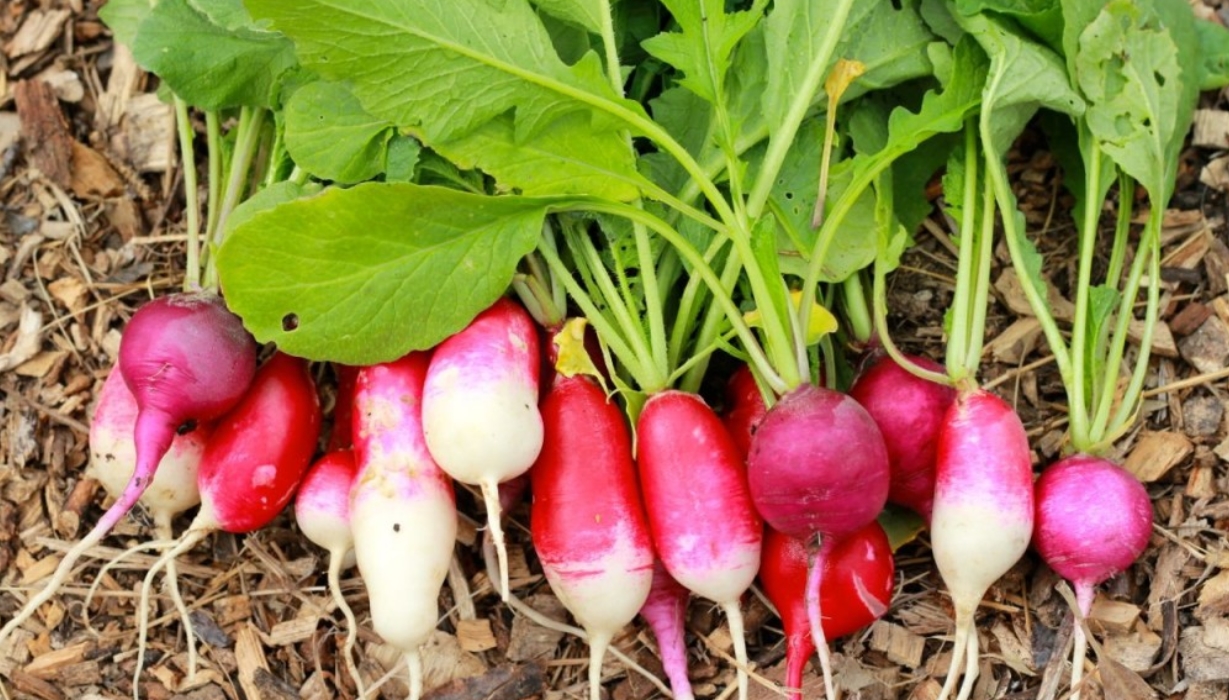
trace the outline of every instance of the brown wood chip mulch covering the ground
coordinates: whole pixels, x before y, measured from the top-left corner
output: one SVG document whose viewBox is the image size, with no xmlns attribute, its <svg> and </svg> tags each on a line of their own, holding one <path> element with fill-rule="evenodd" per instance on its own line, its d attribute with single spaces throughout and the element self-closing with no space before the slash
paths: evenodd
<svg viewBox="0 0 1229 700">
<path fill-rule="evenodd" d="M 1214 21 L 1229 5 L 1192 0 Z M 183 205 L 173 119 L 155 81 L 133 71 L 97 20 L 97 1 L 0 2 L 0 621 L 39 588 L 60 556 L 98 518 L 106 496 L 86 475 L 90 406 L 109 372 L 125 321 L 140 302 L 183 279 Z M 1147 402 L 1117 456 L 1148 486 L 1154 534 L 1127 572 L 1101 587 L 1090 619 L 1099 648 L 1084 698 L 1229 699 L 1229 96 L 1204 95 L 1203 130 L 1184 154 L 1166 215 L 1161 327 Z M 1215 126 L 1220 124 L 1219 131 Z M 1074 274 L 1070 201 L 1039 139 L 1011 155 L 1030 233 L 1058 297 Z M 1112 222 L 1112 212 L 1106 221 Z M 943 311 L 955 255 L 934 215 L 891 279 L 892 334 L 916 352 L 943 352 Z M 998 255 L 1003 265 L 1005 252 Z M 982 381 L 1015 405 L 1039 468 L 1063 448 L 1066 406 L 1052 357 L 1013 285 L 994 273 Z M 1062 298 L 1054 300 L 1061 308 Z M 334 397 L 318 370 L 326 408 Z M 481 556 L 481 499 L 458 491 L 457 571 L 440 598 L 425 652 L 436 699 L 586 696 L 587 650 L 499 602 Z M 528 539 L 527 506 L 511 511 L 514 593 L 564 619 Z M 182 528 L 187 521 L 177 523 Z M 136 599 L 152 561 L 117 554 L 151 539 L 144 513 L 127 518 L 79 562 L 66 586 L 0 647 L 9 698 L 129 698 L 136 664 Z M 327 555 L 289 515 L 251 535 L 213 535 L 182 558 L 179 587 L 193 610 L 202 671 L 186 675 L 182 626 L 159 593 L 139 691 L 150 699 L 353 698 L 340 657 L 348 632 L 326 587 Z M 897 551 L 891 609 L 833 645 L 844 698 L 936 696 L 946 671 L 952 612 L 924 534 Z M 88 587 L 98 582 L 92 598 Z M 371 631 L 359 575 L 342 588 L 359 619 L 360 673 L 381 698 L 403 698 L 404 667 Z M 1029 554 L 987 596 L 977 632 L 984 655 L 978 700 L 1052 700 L 1068 693 L 1072 616 L 1063 585 Z M 780 623 L 758 596 L 745 603 L 755 698 L 780 696 Z M 729 698 L 734 672 L 724 618 L 707 602 L 688 609 L 691 677 L 701 698 Z M 639 620 L 614 646 L 664 678 Z M 816 667 L 806 695 L 819 696 Z M 644 677 L 608 661 L 617 700 L 660 696 Z"/>
</svg>

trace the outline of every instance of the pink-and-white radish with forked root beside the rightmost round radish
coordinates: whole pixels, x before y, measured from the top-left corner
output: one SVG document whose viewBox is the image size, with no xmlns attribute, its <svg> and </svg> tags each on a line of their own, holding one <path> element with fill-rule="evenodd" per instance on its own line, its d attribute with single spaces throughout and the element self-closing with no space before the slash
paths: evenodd
<svg viewBox="0 0 1229 700">
<path fill-rule="evenodd" d="M 930 518 L 934 561 L 956 609 L 956 640 L 940 700 L 955 688 L 966 655 L 957 698 L 972 693 L 978 653 L 973 614 L 991 585 L 1029 548 L 1032 521 L 1032 461 L 1020 418 L 987 391 L 961 393 L 939 431 Z"/>
</svg>

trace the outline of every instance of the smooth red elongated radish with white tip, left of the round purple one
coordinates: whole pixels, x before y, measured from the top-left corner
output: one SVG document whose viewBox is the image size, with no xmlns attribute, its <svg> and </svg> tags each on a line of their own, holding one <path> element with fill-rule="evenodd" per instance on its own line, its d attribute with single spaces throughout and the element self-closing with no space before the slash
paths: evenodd
<svg viewBox="0 0 1229 700">
<path fill-rule="evenodd" d="M 760 570 L 763 522 L 739 448 L 703 399 L 677 391 L 656 393 L 644 404 L 637 445 L 658 556 L 683 587 L 725 610 L 739 661 L 739 698 L 746 698 L 739 598 Z"/>
</svg>

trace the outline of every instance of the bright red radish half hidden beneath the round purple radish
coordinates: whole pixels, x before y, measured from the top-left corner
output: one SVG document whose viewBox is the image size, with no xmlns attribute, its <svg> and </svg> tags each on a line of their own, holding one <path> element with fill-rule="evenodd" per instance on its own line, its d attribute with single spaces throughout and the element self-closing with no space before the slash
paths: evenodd
<svg viewBox="0 0 1229 700">
<path fill-rule="evenodd" d="M 785 626 L 785 685 L 789 700 L 799 700 L 803 669 L 815 651 L 811 621 L 806 613 L 806 543 L 764 529 L 760 581 L 764 594 L 777 607 Z M 823 637 L 837 639 L 855 632 L 887 612 L 896 583 L 896 562 L 887 534 L 879 522 L 846 537 L 823 562 L 820 601 L 823 608 Z"/>
</svg>

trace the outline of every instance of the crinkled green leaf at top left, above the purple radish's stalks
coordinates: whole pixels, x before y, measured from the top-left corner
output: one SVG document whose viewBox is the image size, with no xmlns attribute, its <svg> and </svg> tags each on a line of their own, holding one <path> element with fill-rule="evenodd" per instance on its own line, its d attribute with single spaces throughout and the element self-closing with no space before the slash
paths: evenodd
<svg viewBox="0 0 1229 700">
<path fill-rule="evenodd" d="M 256 26 L 222 27 L 188 0 L 160 0 L 138 29 L 133 55 L 204 109 L 270 107 L 278 80 L 295 65 L 288 38 Z"/>
</svg>

